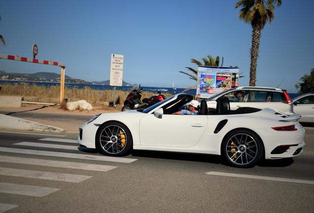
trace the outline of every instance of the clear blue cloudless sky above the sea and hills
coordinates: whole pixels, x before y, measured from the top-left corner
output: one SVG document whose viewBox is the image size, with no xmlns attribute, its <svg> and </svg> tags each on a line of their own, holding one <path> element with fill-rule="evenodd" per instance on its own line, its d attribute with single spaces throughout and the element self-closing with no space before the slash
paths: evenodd
<svg viewBox="0 0 314 213">
<path fill-rule="evenodd" d="M 86 81 L 110 78 L 111 54 L 124 56 L 123 80 L 152 87 L 186 88 L 196 81 L 179 71 L 190 59 L 224 57 L 249 84 L 250 24 L 238 18 L 237 0 L 1 0 L 0 54 L 66 65 Z M 261 33 L 257 86 L 297 92 L 314 68 L 314 1 L 282 0 Z M 0 70 L 60 73 L 56 66 L 0 60 Z M 282 82 L 283 81 L 283 82 Z"/>
</svg>

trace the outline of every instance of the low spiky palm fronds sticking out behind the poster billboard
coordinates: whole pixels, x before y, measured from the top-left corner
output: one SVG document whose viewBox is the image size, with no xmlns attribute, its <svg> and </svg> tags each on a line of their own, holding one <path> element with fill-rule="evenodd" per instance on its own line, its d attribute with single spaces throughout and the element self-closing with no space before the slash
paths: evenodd
<svg viewBox="0 0 314 213">
<path fill-rule="evenodd" d="M 191 62 L 196 64 L 197 66 L 212 66 L 212 67 L 219 67 L 219 62 L 220 62 L 220 58 L 219 56 L 216 57 L 216 59 L 214 59 L 213 57 L 211 57 L 210 55 L 206 57 L 203 57 L 202 58 L 202 61 L 203 63 L 201 63 L 200 61 L 196 60 L 196 59 L 191 59 Z M 224 57 L 222 57 L 222 62 L 221 62 L 221 65 L 220 67 L 223 66 L 223 63 L 224 63 Z M 188 76 L 190 76 L 189 78 L 190 79 L 193 79 L 193 80 L 196 80 L 197 81 L 197 71 L 193 68 L 190 68 L 190 67 L 186 67 L 186 69 L 188 69 L 188 71 L 191 71 L 193 74 L 190 74 L 188 72 L 185 72 L 185 71 L 179 71 L 183 74 L 186 74 Z M 190 89 L 195 89 L 197 87 L 197 85 L 195 86 L 192 86 L 192 87 L 189 87 L 189 88 L 186 88 L 185 90 L 183 90 L 182 92 L 185 92 L 185 91 L 188 91 Z"/>
</svg>

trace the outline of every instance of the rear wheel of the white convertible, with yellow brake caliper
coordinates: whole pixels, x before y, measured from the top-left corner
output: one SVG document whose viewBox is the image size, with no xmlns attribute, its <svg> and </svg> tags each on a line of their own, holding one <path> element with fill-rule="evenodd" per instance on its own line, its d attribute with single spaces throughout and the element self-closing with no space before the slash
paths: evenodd
<svg viewBox="0 0 314 213">
<path fill-rule="evenodd" d="M 228 133 L 222 142 L 222 158 L 231 166 L 254 167 L 262 157 L 261 139 L 252 131 L 239 129 Z"/>
</svg>

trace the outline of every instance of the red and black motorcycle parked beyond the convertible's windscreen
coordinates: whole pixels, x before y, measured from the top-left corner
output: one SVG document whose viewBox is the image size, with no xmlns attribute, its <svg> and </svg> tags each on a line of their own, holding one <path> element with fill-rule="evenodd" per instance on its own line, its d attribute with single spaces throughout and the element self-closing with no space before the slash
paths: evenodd
<svg viewBox="0 0 314 213">
<path fill-rule="evenodd" d="M 161 92 L 158 91 L 156 95 L 145 98 L 141 101 L 142 97 L 142 88 L 132 88 L 131 92 L 126 97 L 126 100 L 123 103 L 122 111 L 127 111 L 130 109 L 145 109 L 149 106 L 152 106 L 160 101 L 166 99 L 164 95 L 161 95 Z"/>
</svg>

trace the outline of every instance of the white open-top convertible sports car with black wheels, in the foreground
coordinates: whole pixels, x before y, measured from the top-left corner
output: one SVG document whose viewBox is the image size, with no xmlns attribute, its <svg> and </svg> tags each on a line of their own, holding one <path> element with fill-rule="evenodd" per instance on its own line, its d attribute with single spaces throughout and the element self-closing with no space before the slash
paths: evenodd
<svg viewBox="0 0 314 213">
<path fill-rule="evenodd" d="M 235 167 L 252 167 L 261 158 L 280 159 L 303 151 L 304 129 L 299 114 L 240 107 L 230 110 L 228 98 L 208 112 L 206 101 L 197 115 L 175 115 L 193 100 L 177 94 L 145 110 L 103 113 L 79 128 L 78 142 L 110 156 L 133 149 L 221 155 Z"/>
</svg>

